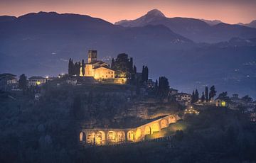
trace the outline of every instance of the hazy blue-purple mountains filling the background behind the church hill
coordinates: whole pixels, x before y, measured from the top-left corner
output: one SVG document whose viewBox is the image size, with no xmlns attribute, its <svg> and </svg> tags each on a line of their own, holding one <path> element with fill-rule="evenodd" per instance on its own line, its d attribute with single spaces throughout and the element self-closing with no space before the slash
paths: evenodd
<svg viewBox="0 0 256 163">
<path fill-rule="evenodd" d="M 94 49 L 105 62 L 126 52 L 138 70 L 146 64 L 152 79 L 165 75 L 180 91 L 215 84 L 219 91 L 256 97 L 255 31 L 166 18 L 158 10 L 115 24 L 73 13 L 0 16 L 0 73 L 56 76 L 67 72 L 70 57 L 86 60 Z"/>
</svg>

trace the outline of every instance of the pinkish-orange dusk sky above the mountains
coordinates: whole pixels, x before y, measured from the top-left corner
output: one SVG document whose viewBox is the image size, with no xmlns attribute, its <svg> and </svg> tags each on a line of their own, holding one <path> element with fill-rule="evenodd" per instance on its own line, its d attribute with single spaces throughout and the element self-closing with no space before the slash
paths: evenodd
<svg viewBox="0 0 256 163">
<path fill-rule="evenodd" d="M 138 18 L 151 9 L 159 9 L 166 17 L 218 19 L 225 23 L 250 23 L 256 19 L 256 0 L 0 0 L 0 15 L 55 11 L 89 15 L 111 23 Z"/>
</svg>

